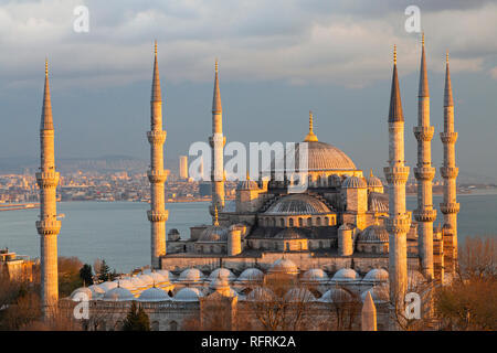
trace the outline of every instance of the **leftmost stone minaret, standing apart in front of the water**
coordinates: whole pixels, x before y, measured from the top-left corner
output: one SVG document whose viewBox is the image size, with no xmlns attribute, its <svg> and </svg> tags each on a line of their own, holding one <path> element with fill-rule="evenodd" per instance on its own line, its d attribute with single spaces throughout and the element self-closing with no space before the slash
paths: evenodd
<svg viewBox="0 0 497 353">
<path fill-rule="evenodd" d="M 45 92 L 40 125 L 41 165 L 36 173 L 40 188 L 40 221 L 36 221 L 40 234 L 41 258 L 41 300 L 43 317 L 50 317 L 59 300 L 57 234 L 61 221 L 57 221 L 56 188 L 59 172 L 55 171 L 54 130 L 52 103 L 50 100 L 49 62 L 45 61 Z"/>
</svg>

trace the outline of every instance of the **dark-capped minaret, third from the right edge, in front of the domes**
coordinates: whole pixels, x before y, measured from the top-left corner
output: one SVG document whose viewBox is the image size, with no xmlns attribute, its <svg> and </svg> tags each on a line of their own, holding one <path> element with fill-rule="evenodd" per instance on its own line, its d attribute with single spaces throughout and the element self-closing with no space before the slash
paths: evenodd
<svg viewBox="0 0 497 353">
<path fill-rule="evenodd" d="M 396 74 L 396 47 L 393 49 L 392 90 L 389 111 L 389 167 L 384 168 L 389 183 L 389 218 L 387 231 L 389 244 L 390 300 L 403 308 L 408 287 L 406 234 L 411 226 L 410 214 L 405 212 L 405 183 L 409 167 L 404 161 L 404 117 Z"/>
</svg>

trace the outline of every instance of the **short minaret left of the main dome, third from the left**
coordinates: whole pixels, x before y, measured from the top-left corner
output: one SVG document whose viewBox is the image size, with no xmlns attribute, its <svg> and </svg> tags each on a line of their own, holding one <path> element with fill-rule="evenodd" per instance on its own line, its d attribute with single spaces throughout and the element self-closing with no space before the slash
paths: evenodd
<svg viewBox="0 0 497 353">
<path fill-rule="evenodd" d="M 211 215 L 214 208 L 224 208 L 224 160 L 223 151 L 226 138 L 223 136 L 223 108 L 221 106 L 221 93 L 219 92 L 218 60 L 215 60 L 214 96 L 212 99 L 212 136 L 209 138 L 212 148 L 211 183 L 212 204 Z"/>
</svg>

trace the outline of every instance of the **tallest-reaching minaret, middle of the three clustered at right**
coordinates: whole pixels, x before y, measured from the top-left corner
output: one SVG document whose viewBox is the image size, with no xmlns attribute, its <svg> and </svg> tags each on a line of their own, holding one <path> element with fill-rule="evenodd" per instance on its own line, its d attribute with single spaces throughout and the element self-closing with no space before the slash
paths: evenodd
<svg viewBox="0 0 497 353">
<path fill-rule="evenodd" d="M 430 126 L 430 90 L 423 33 L 417 95 L 417 126 L 414 127 L 414 136 L 417 140 L 417 165 L 414 168 L 414 175 L 417 180 L 417 210 L 414 212 L 414 217 L 417 221 L 417 248 L 421 268 L 429 280 L 433 278 L 433 221 L 436 220 L 436 210 L 433 210 L 432 196 L 432 180 L 435 176 L 435 169 L 432 167 L 431 141 L 434 131 L 433 126 Z"/>
</svg>

